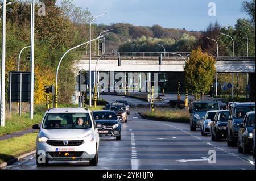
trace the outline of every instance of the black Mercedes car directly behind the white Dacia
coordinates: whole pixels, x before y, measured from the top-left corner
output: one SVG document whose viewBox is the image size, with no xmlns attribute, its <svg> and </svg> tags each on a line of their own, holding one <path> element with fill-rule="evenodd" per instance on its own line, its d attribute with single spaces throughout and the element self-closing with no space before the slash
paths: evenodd
<svg viewBox="0 0 256 181">
<path fill-rule="evenodd" d="M 102 128 L 98 129 L 100 136 L 115 136 L 121 140 L 121 123 L 114 111 L 93 111 L 93 117 L 96 124 L 102 124 Z"/>
</svg>

